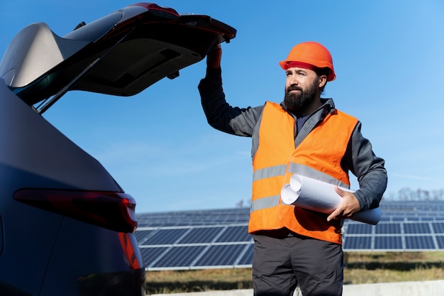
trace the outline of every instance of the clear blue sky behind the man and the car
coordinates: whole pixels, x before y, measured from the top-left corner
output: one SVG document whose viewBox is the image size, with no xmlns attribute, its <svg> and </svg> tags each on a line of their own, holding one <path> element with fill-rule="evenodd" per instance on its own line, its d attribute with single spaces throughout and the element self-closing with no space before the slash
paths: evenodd
<svg viewBox="0 0 444 296">
<path fill-rule="evenodd" d="M 38 3 L 36 3 L 38 2 Z M 65 35 L 137 1 L 1 1 L 0 53 L 42 21 Z M 278 62 L 315 40 L 333 55 L 325 97 L 362 121 L 386 160 L 386 196 L 444 188 L 444 3 L 429 1 L 157 1 L 238 30 L 223 44 L 223 85 L 233 106 L 281 102 Z M 279 5 L 278 5 L 279 4 Z M 43 115 L 99 160 L 137 200 L 137 212 L 235 207 L 251 194 L 250 138 L 214 130 L 197 91 L 204 60 L 133 97 L 69 92 Z M 353 176 L 352 176 L 353 179 Z M 353 180 L 353 189 L 357 182 Z"/>
</svg>

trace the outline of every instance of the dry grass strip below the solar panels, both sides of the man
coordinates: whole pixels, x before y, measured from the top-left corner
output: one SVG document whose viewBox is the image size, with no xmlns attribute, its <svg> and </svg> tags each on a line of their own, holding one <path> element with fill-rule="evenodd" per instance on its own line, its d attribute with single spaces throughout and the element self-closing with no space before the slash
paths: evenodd
<svg viewBox="0 0 444 296">
<path fill-rule="evenodd" d="M 250 268 L 148 271 L 147 293 L 251 289 Z M 345 253 L 344 283 L 444 279 L 444 252 Z"/>
</svg>

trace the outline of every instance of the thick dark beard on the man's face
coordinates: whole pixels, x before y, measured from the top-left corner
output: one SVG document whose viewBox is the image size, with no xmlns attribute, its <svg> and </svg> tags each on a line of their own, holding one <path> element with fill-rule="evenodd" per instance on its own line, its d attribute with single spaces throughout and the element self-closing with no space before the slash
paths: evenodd
<svg viewBox="0 0 444 296">
<path fill-rule="evenodd" d="M 291 93 L 292 90 L 299 90 L 299 93 Z M 288 111 L 294 114 L 301 114 L 304 109 L 309 107 L 318 93 L 318 81 L 314 81 L 307 89 L 302 89 L 294 85 L 290 85 L 285 89 L 284 104 Z M 306 114 L 304 114 L 306 115 Z"/>
</svg>

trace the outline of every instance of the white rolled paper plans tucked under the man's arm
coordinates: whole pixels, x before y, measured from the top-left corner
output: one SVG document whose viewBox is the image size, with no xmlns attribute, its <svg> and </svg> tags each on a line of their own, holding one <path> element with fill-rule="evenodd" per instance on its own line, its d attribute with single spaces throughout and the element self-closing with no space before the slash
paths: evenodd
<svg viewBox="0 0 444 296">
<path fill-rule="evenodd" d="M 341 190 L 353 192 L 343 187 Z M 311 209 L 324 214 L 331 214 L 340 204 L 342 197 L 335 192 L 335 185 L 301 175 L 292 175 L 290 183 L 281 190 L 282 202 L 295 207 Z M 381 219 L 381 209 L 367 209 L 350 217 L 355 221 L 376 225 Z"/>
</svg>

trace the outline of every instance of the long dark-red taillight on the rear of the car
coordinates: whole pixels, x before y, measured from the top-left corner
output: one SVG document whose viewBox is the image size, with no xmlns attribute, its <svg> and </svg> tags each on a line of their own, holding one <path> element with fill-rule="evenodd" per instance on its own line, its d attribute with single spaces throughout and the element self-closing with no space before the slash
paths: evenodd
<svg viewBox="0 0 444 296">
<path fill-rule="evenodd" d="M 50 212 L 118 232 L 134 232 L 135 199 L 121 192 L 23 189 L 13 198 Z"/>
</svg>

